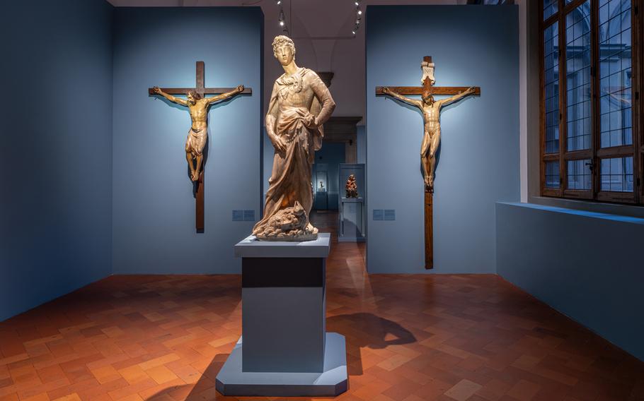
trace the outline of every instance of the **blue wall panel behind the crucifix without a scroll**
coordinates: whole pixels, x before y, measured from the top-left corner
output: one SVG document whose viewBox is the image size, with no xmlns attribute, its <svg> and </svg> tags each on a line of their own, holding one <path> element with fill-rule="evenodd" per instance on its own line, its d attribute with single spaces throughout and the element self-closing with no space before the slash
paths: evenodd
<svg viewBox="0 0 644 401">
<path fill-rule="evenodd" d="M 114 273 L 239 273 L 233 246 L 260 208 L 263 14 L 260 8 L 117 8 L 114 36 Z M 253 88 L 209 112 L 205 233 L 185 161 L 190 116 L 147 88 Z"/>
</svg>

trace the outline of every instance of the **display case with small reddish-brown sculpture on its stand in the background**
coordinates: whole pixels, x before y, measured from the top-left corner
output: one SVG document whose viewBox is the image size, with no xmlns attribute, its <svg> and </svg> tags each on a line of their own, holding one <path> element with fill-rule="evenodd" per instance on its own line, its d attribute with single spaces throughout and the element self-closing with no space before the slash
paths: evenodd
<svg viewBox="0 0 644 401">
<path fill-rule="evenodd" d="M 340 188 L 340 222 L 338 241 L 364 241 L 364 202 L 365 185 L 364 164 L 341 163 L 338 169 L 338 188 Z"/>
</svg>

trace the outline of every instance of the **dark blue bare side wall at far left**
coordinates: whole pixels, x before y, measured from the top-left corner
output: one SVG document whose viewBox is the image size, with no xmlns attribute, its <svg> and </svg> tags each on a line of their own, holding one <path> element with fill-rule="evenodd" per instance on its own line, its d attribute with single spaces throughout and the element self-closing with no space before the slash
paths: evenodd
<svg viewBox="0 0 644 401">
<path fill-rule="evenodd" d="M 0 321 L 112 271 L 112 15 L 2 6 Z"/>
</svg>

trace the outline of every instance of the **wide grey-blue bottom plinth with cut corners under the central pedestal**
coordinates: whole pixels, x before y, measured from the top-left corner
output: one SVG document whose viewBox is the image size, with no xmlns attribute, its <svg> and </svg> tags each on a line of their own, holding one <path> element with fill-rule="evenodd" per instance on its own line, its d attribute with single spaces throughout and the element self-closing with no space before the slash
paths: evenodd
<svg viewBox="0 0 644 401">
<path fill-rule="evenodd" d="M 264 397 L 334 397 L 348 388 L 345 336 L 326 333 L 322 373 L 245 372 L 241 370 L 242 341 L 235 345 L 217 375 L 223 395 Z"/>
</svg>

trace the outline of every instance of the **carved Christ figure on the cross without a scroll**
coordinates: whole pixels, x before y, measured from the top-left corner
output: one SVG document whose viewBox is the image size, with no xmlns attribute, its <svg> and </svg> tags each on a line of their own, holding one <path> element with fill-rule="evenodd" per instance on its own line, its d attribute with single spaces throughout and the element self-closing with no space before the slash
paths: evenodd
<svg viewBox="0 0 644 401">
<path fill-rule="evenodd" d="M 188 107 L 190 110 L 190 120 L 192 121 L 192 125 L 188 131 L 188 138 L 185 140 L 185 160 L 188 161 L 188 167 L 190 167 L 190 179 L 192 181 L 197 181 L 202 168 L 204 146 L 206 145 L 206 140 L 208 138 L 208 108 L 214 102 L 228 99 L 231 96 L 243 92 L 243 85 L 239 85 L 230 92 L 225 92 L 213 97 L 201 97 L 197 91 L 191 89 L 186 93 L 188 97 L 187 100 L 169 95 L 168 93 L 163 92 L 163 90 L 158 86 L 152 88 L 152 92 L 156 95 L 165 97 L 173 103 Z"/>
</svg>

